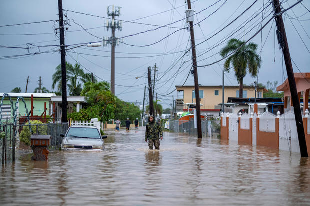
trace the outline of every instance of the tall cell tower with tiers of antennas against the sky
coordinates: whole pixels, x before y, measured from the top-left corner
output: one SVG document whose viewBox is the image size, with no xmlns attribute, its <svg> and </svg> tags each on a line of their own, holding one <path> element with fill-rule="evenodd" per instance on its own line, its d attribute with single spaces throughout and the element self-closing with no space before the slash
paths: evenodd
<svg viewBox="0 0 310 206">
<path fill-rule="evenodd" d="M 115 16 L 120 16 L 120 8 L 119 6 L 110 5 L 107 7 L 107 16 L 112 16 L 112 19 L 106 20 L 106 29 L 112 29 L 111 37 L 103 37 L 103 46 L 107 46 L 107 44 L 112 45 L 111 52 L 111 92 L 115 94 L 115 46 L 119 45 L 119 39 L 115 37 L 115 30 L 118 29 L 121 31 L 121 21 L 115 21 Z"/>
</svg>

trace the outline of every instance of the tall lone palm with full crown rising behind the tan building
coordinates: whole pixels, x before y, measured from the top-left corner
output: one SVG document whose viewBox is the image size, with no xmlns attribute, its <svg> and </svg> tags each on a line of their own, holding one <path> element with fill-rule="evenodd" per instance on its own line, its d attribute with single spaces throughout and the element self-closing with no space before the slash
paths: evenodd
<svg viewBox="0 0 310 206">
<path fill-rule="evenodd" d="M 222 57 L 227 56 L 229 53 L 241 47 L 245 41 L 239 39 L 230 39 L 227 45 L 220 50 Z M 230 63 L 233 66 L 235 76 L 240 84 L 239 97 L 243 97 L 243 78 L 246 75 L 246 68 L 252 77 L 257 76 L 258 68 L 260 67 L 261 60 L 256 53 L 258 45 L 255 43 L 244 44 L 238 51 L 229 56 L 225 63 L 224 68 L 229 72 Z"/>
</svg>

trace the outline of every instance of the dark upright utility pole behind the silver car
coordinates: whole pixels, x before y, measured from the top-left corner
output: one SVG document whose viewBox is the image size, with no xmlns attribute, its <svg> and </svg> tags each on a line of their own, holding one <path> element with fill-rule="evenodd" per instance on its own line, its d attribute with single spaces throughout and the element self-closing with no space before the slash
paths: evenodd
<svg viewBox="0 0 310 206">
<path fill-rule="evenodd" d="M 64 26 L 63 26 L 63 13 L 62 13 L 62 0 L 58 0 L 59 10 L 59 29 L 60 29 L 60 53 L 61 53 L 61 96 L 62 96 L 62 122 L 66 123 L 67 120 L 67 97 L 66 97 L 66 68 L 65 68 L 65 44 L 64 44 Z"/>
</svg>

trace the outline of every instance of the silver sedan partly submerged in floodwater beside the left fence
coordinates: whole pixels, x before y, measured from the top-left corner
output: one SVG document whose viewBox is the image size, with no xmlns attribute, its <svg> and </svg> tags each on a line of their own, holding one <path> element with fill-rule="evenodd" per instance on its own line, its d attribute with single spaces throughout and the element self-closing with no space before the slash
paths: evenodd
<svg viewBox="0 0 310 206">
<path fill-rule="evenodd" d="M 106 135 L 101 136 L 94 126 L 74 125 L 69 127 L 61 143 L 62 150 L 103 150 Z"/>
</svg>

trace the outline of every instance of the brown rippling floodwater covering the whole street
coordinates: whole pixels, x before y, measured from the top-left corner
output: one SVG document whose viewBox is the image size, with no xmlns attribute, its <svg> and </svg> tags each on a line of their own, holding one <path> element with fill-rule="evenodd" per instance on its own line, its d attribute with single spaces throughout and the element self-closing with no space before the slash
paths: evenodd
<svg viewBox="0 0 310 206">
<path fill-rule="evenodd" d="M 310 205 L 310 160 L 297 153 L 144 128 L 108 131 L 103 152 L 21 155 L 0 169 L 0 205 Z"/>
</svg>

